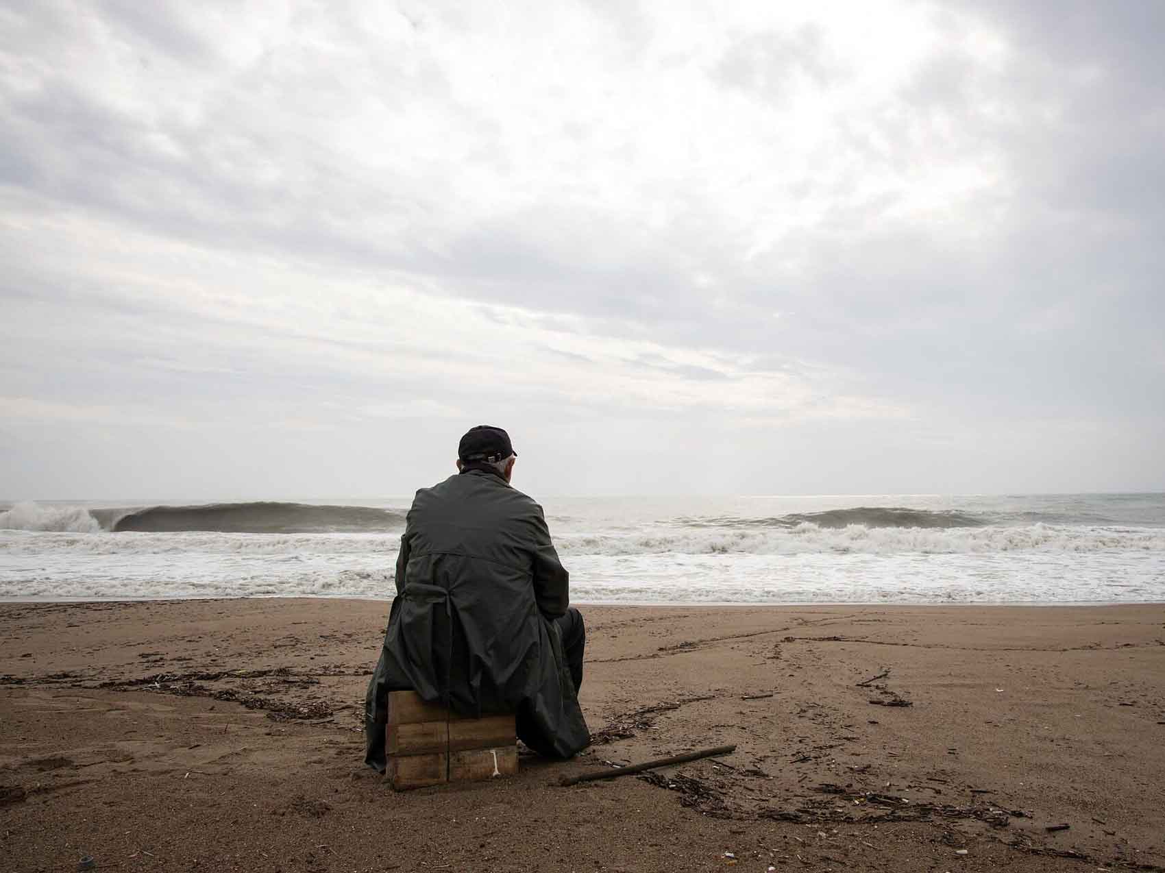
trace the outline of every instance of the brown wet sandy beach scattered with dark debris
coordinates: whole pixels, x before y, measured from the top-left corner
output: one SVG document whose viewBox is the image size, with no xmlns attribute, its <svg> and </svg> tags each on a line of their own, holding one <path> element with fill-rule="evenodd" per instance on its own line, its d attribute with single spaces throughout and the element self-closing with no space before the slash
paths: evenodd
<svg viewBox="0 0 1165 873">
<path fill-rule="evenodd" d="M 0 868 L 1165 868 L 1163 605 L 584 607 L 595 745 L 403 794 L 361 762 L 387 613 L 0 605 Z"/>
</svg>

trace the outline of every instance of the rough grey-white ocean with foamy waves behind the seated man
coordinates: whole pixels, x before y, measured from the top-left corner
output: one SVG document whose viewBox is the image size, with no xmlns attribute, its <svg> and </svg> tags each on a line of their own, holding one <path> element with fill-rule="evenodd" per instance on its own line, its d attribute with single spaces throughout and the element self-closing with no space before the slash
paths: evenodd
<svg viewBox="0 0 1165 873">
<path fill-rule="evenodd" d="M 0 504 L 0 598 L 389 598 L 409 502 Z M 543 506 L 576 603 L 1165 601 L 1165 494 Z"/>
</svg>

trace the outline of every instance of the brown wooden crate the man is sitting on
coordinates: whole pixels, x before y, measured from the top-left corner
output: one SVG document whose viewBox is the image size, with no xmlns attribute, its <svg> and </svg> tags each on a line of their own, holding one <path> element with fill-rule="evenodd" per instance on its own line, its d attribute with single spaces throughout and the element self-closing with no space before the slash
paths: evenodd
<svg viewBox="0 0 1165 873">
<path fill-rule="evenodd" d="M 390 691 L 386 779 L 397 791 L 517 773 L 514 716 L 465 718 L 414 691 Z"/>
</svg>

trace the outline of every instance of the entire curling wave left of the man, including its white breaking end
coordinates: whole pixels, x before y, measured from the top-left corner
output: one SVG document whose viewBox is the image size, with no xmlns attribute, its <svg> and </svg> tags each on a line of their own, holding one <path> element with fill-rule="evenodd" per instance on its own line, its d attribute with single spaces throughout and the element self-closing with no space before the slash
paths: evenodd
<svg viewBox="0 0 1165 873">
<path fill-rule="evenodd" d="M 0 512 L 0 528 L 98 534 L 103 530 L 172 534 L 346 534 L 398 529 L 404 514 L 370 506 L 313 506 L 257 501 L 205 506 L 90 509 L 16 504 Z"/>
</svg>

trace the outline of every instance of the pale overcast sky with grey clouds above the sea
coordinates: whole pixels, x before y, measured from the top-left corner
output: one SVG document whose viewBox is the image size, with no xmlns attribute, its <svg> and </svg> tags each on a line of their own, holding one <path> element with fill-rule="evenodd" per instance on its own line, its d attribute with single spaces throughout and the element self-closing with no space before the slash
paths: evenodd
<svg viewBox="0 0 1165 873">
<path fill-rule="evenodd" d="M 1165 490 L 1165 3 L 0 3 L 0 498 Z"/>
</svg>

